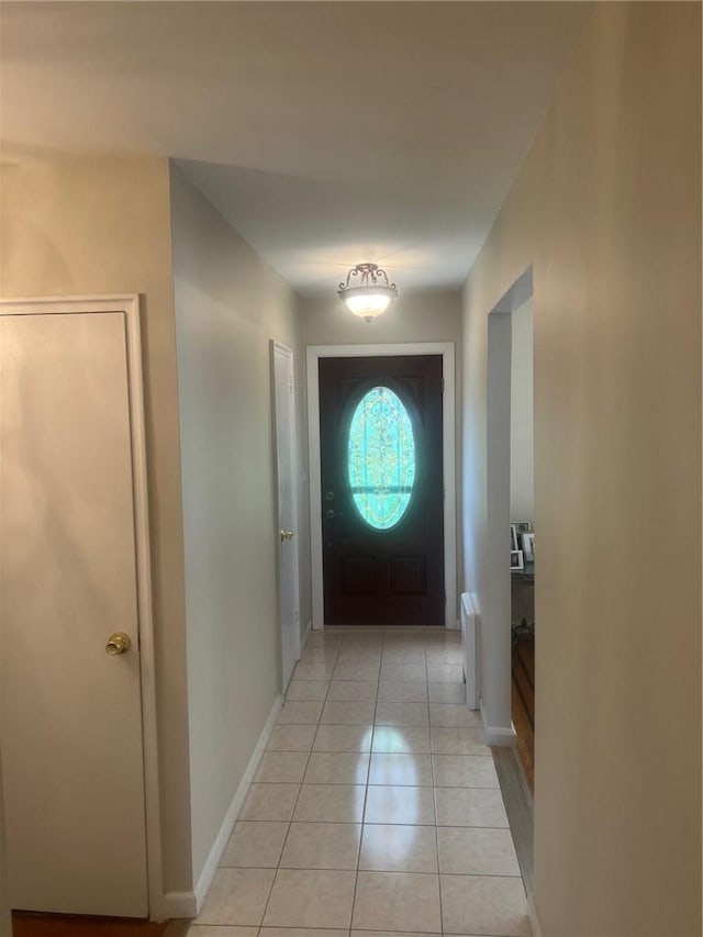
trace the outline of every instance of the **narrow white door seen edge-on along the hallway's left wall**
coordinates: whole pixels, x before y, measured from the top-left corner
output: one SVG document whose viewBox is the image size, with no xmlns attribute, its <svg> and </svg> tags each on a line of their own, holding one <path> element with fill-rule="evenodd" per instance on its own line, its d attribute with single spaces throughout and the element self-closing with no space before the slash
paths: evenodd
<svg viewBox="0 0 703 937">
<path fill-rule="evenodd" d="M 293 352 L 271 342 L 278 478 L 279 585 L 282 689 L 300 658 L 298 585 L 298 459 Z"/>
</svg>

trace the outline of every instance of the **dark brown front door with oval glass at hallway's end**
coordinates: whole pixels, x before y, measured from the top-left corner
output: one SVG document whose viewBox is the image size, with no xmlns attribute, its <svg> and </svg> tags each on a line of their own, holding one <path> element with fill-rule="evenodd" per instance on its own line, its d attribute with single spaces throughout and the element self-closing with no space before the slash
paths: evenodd
<svg viewBox="0 0 703 937">
<path fill-rule="evenodd" d="M 444 625 L 442 356 L 320 359 L 327 625 Z"/>
</svg>

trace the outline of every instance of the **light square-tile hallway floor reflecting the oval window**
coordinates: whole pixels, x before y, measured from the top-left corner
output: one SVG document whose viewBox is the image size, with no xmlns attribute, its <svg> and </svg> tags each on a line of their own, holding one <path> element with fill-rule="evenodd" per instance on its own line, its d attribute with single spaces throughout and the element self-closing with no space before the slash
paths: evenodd
<svg viewBox="0 0 703 937">
<path fill-rule="evenodd" d="M 189 937 L 528 937 L 459 635 L 313 632 Z"/>
</svg>

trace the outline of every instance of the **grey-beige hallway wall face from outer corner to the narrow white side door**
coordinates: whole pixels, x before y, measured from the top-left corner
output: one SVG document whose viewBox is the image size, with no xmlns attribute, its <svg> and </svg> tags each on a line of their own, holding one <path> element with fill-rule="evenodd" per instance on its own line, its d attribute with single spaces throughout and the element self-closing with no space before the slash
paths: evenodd
<svg viewBox="0 0 703 937">
<path fill-rule="evenodd" d="M 290 288 L 175 167 L 171 211 L 197 882 L 280 692 L 269 339 L 300 360 L 302 334 Z"/>
</svg>

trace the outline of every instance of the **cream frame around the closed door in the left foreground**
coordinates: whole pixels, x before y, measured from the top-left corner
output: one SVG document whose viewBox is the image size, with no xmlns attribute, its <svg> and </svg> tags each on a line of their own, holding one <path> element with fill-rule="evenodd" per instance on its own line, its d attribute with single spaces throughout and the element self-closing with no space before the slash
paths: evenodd
<svg viewBox="0 0 703 937">
<path fill-rule="evenodd" d="M 124 313 L 125 319 L 132 484 L 134 490 L 140 677 L 142 684 L 147 895 L 149 918 L 158 921 L 163 919 L 164 914 L 164 886 L 140 297 L 137 293 L 122 293 L 116 295 L 38 297 L 36 299 L 0 300 L 0 315 L 67 315 L 114 312 Z"/>
</svg>

